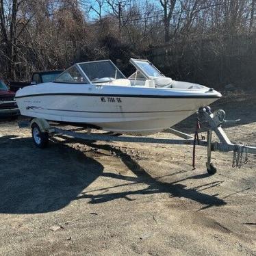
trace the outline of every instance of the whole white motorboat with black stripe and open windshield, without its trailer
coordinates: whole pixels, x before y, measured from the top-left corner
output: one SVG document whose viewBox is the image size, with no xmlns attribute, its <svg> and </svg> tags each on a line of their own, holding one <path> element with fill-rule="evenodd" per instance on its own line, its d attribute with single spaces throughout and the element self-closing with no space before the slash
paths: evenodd
<svg viewBox="0 0 256 256">
<path fill-rule="evenodd" d="M 131 59 L 125 75 L 111 60 L 77 63 L 51 83 L 16 92 L 23 116 L 145 135 L 176 125 L 221 97 L 212 88 L 165 77 L 148 60 Z"/>
</svg>

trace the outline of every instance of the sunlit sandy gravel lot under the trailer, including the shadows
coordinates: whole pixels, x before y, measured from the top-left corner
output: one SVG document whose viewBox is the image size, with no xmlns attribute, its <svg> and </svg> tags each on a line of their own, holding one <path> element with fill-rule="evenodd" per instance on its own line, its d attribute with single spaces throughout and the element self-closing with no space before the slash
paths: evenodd
<svg viewBox="0 0 256 256">
<path fill-rule="evenodd" d="M 231 140 L 256 145 L 255 94 L 216 107 L 242 118 Z M 209 176 L 199 147 L 196 170 L 191 146 L 56 137 L 42 150 L 2 120 L 0 159 L 1 255 L 256 255 L 256 155 L 238 169 L 214 152 Z"/>
</svg>

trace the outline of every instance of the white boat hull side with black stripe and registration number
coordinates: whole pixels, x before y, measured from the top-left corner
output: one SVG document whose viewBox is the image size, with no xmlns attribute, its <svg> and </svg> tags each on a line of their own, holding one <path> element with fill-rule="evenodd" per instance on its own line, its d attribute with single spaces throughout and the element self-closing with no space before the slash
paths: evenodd
<svg viewBox="0 0 256 256">
<path fill-rule="evenodd" d="M 157 90 L 158 93 L 153 94 L 152 89 L 138 90 L 140 88 L 127 94 L 131 91 L 120 86 L 110 86 L 114 87 L 112 92 L 102 90 L 107 86 L 94 91 L 90 88 L 93 90 L 97 86 L 84 86 L 84 89 L 86 87 L 88 90 L 80 92 L 54 92 L 53 88 L 44 86 L 43 93 L 24 88 L 22 90 L 27 89 L 27 92 L 17 93 L 16 101 L 24 116 L 94 125 L 105 131 L 140 136 L 172 127 L 219 97 L 199 92 L 181 95 L 170 93 L 170 90 Z"/>
</svg>

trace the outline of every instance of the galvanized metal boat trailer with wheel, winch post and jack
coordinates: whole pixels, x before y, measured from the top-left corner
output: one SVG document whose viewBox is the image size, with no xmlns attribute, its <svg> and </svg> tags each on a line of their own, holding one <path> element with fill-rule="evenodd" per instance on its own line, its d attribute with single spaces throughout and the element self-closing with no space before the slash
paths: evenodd
<svg viewBox="0 0 256 256">
<path fill-rule="evenodd" d="M 187 133 L 177 131 L 175 129 L 168 129 L 168 131 L 175 136 L 179 136 L 182 139 L 166 139 L 166 138 L 150 138 L 150 137 L 134 137 L 134 136 L 118 136 L 115 133 L 91 133 L 91 129 L 88 128 L 86 133 L 75 132 L 68 129 L 60 129 L 54 127 L 48 123 L 47 120 L 42 118 L 33 118 L 30 122 L 32 137 L 34 143 L 39 148 L 44 148 L 48 144 L 49 136 L 54 134 L 62 134 L 73 138 L 79 138 L 83 140 L 98 140 L 106 142 L 138 142 L 138 143 L 151 143 L 151 144 L 185 144 L 193 145 L 193 167 L 195 157 L 195 146 L 207 147 L 207 162 L 206 168 L 210 175 L 216 173 L 216 168 L 211 162 L 212 151 L 229 152 L 233 151 L 233 167 L 240 168 L 242 164 L 248 162 L 248 154 L 256 154 L 255 146 L 246 146 L 244 144 L 234 144 L 227 137 L 225 131 L 222 129 L 222 123 L 235 123 L 238 120 L 225 120 L 224 110 L 216 110 L 211 112 L 210 107 L 202 107 L 197 114 L 198 129 L 200 129 L 201 123 L 207 123 L 207 138 L 202 137 L 199 139 L 198 132 L 194 136 L 190 136 Z M 29 123 L 20 122 L 20 127 L 28 127 Z M 212 132 L 216 133 L 218 142 L 212 141 Z"/>
</svg>

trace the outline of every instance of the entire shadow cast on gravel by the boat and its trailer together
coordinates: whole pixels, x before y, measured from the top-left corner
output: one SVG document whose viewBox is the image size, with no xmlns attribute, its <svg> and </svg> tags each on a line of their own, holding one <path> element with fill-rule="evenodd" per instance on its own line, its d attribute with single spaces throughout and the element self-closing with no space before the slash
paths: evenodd
<svg viewBox="0 0 256 256">
<path fill-rule="evenodd" d="M 66 140 L 70 142 L 70 140 Z M 103 173 L 103 166 L 86 157 L 84 153 L 67 146 L 65 142 L 51 143 L 48 149 L 37 149 L 31 138 L 0 138 L 0 213 L 36 214 L 53 212 L 65 207 L 75 199 L 90 199 L 90 203 L 104 203 L 125 198 L 132 194 L 168 193 L 172 197 L 184 197 L 197 201 L 206 207 L 225 205 L 216 195 L 203 194 L 200 190 L 218 185 L 222 181 L 207 183 L 200 188 L 186 188 L 185 185 L 163 183 L 161 177 L 151 177 L 130 155 L 109 145 L 86 143 L 99 149 L 115 151 L 116 155 L 137 177 L 126 177 L 115 173 Z M 146 183 L 148 188 L 125 192 L 99 194 L 100 190 L 81 193 L 99 176 L 131 181 L 129 185 Z M 170 174 L 172 175 L 172 174 Z M 186 179 L 202 179 L 207 174 L 194 175 Z M 116 185 L 117 188 L 125 185 Z M 205 188 L 203 188 L 205 186 Z M 201 189 L 203 188 L 203 189 Z M 93 194 L 93 192 L 96 192 Z"/>
</svg>

